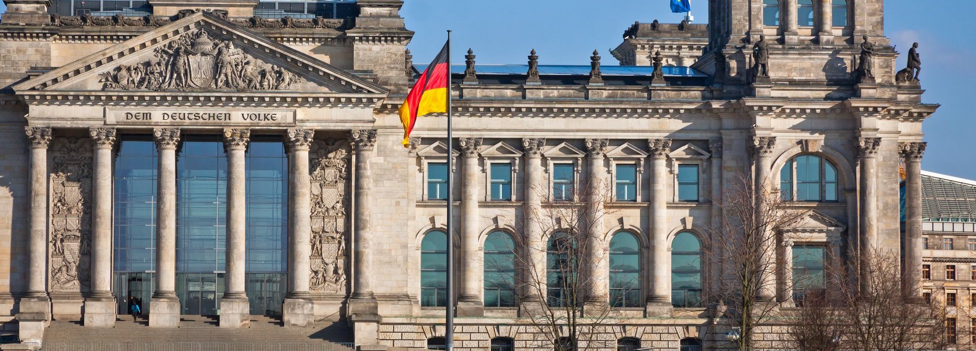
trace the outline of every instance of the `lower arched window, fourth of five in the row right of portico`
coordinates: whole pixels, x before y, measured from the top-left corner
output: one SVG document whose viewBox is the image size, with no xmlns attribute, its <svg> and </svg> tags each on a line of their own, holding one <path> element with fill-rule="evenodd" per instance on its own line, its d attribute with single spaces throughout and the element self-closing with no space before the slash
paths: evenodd
<svg viewBox="0 0 976 351">
<path fill-rule="evenodd" d="M 630 232 L 618 232 L 610 239 L 610 306 L 640 302 L 640 242 Z"/>
</svg>

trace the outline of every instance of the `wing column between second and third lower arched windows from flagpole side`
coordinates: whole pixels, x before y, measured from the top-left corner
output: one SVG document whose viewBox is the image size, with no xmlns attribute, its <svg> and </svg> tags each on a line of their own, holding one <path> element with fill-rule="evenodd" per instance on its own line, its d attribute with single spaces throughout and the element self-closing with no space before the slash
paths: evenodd
<svg viewBox="0 0 976 351">
<path fill-rule="evenodd" d="M 521 253 L 522 261 L 526 264 L 522 269 L 522 281 L 516 284 L 522 285 L 522 300 L 528 303 L 522 304 L 525 309 L 536 308 L 536 304 L 544 303 L 545 297 L 540 295 L 540 291 L 545 291 L 546 284 L 546 242 L 543 240 L 543 228 L 539 223 L 542 213 L 542 199 L 549 189 L 543 182 L 542 151 L 546 146 L 545 138 L 523 138 L 522 152 L 525 156 L 525 199 L 522 205 L 523 225 L 525 228 L 525 241 Z M 540 289 L 543 288 L 543 289 Z M 541 308 L 542 306 L 538 306 Z"/>
</svg>

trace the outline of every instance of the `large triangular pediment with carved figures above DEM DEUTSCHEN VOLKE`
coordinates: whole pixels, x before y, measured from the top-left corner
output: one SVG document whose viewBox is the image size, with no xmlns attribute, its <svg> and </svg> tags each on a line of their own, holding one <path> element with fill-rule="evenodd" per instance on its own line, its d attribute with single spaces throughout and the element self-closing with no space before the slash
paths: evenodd
<svg viewBox="0 0 976 351">
<path fill-rule="evenodd" d="M 18 94 L 386 95 L 386 88 L 198 12 L 28 79 Z"/>
</svg>

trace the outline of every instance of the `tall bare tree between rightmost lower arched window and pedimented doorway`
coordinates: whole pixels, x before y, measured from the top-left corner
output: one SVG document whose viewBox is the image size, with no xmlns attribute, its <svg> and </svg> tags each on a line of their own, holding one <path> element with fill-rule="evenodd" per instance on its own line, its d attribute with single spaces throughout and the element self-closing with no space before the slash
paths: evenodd
<svg viewBox="0 0 976 351">
<path fill-rule="evenodd" d="M 709 256 L 716 259 L 719 287 L 716 317 L 732 329 L 735 347 L 752 349 L 761 328 L 779 310 L 775 278 L 779 260 L 777 233 L 793 228 L 804 212 L 787 206 L 779 194 L 769 190 L 768 179 L 755 181 L 749 175 L 733 176 L 726 182 L 722 199 L 712 199 L 722 216 L 709 232 Z M 757 185 L 758 184 L 758 185 Z M 791 257 L 780 257 L 790 259 Z"/>
</svg>

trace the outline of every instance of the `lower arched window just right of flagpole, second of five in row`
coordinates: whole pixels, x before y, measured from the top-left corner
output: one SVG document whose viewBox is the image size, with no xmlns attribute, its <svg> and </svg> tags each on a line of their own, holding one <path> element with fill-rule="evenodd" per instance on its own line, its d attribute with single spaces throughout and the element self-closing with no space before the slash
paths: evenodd
<svg viewBox="0 0 976 351">
<path fill-rule="evenodd" d="M 515 306 L 515 242 L 504 231 L 485 240 L 485 307 Z"/>
</svg>

